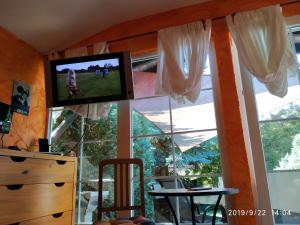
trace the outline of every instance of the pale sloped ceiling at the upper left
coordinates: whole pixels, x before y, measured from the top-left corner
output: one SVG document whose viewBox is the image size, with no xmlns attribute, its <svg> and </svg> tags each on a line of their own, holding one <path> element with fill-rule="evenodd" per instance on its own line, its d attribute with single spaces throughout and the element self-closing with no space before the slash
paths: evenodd
<svg viewBox="0 0 300 225">
<path fill-rule="evenodd" d="M 41 53 L 112 25 L 209 0 L 1 0 L 0 26 Z"/>
</svg>

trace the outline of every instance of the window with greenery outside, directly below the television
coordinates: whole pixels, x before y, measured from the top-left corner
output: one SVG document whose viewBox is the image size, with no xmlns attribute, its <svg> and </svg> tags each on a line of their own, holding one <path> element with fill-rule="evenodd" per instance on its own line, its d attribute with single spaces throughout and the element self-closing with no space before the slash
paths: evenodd
<svg viewBox="0 0 300 225">
<path fill-rule="evenodd" d="M 97 218 L 98 164 L 101 159 L 117 156 L 117 103 L 111 103 L 106 118 L 84 119 L 74 112 L 51 109 L 51 151 L 78 156 L 76 224 L 92 224 Z M 111 179 L 106 179 L 104 199 L 113 199 Z"/>
</svg>

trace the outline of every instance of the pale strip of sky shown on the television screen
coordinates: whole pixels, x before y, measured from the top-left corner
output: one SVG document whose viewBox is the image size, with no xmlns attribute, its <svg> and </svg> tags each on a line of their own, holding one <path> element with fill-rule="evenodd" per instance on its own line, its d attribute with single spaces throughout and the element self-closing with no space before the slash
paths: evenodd
<svg viewBox="0 0 300 225">
<path fill-rule="evenodd" d="M 113 66 L 119 65 L 119 60 L 116 59 L 104 59 L 104 60 L 96 60 L 96 61 L 89 61 L 89 62 L 81 62 L 81 63 L 71 63 L 71 64 L 63 64 L 56 66 L 57 71 L 61 71 L 63 69 L 73 69 L 73 70 L 80 70 L 80 69 L 87 69 L 89 66 L 93 65 L 99 65 L 100 67 L 103 67 L 105 63 L 110 63 Z"/>
</svg>

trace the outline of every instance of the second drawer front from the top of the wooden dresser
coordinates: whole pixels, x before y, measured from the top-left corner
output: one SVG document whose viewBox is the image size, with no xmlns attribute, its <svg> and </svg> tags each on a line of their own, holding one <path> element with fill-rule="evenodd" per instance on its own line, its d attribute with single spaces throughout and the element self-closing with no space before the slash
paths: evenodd
<svg viewBox="0 0 300 225">
<path fill-rule="evenodd" d="M 73 183 L 57 185 L 0 186 L 0 224 L 72 211 Z"/>
</svg>

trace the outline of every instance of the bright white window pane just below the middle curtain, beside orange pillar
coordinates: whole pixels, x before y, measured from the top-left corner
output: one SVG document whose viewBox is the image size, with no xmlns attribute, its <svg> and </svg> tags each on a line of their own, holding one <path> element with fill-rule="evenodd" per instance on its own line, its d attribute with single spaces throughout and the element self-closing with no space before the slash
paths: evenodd
<svg viewBox="0 0 300 225">
<path fill-rule="evenodd" d="M 171 104 L 174 132 L 216 128 L 212 90 L 201 91 L 199 99 L 194 104 L 187 101 L 180 105 L 174 100 Z"/>
</svg>

